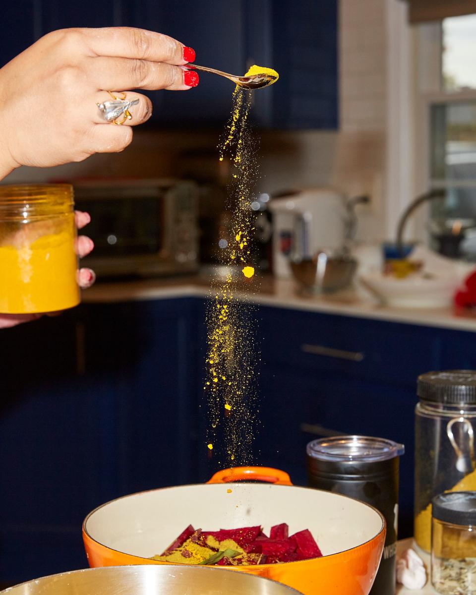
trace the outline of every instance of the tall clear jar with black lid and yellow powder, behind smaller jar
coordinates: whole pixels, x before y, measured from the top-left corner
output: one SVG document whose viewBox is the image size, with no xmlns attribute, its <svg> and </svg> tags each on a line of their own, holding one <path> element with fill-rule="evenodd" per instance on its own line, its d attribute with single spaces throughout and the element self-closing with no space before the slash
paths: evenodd
<svg viewBox="0 0 476 595">
<path fill-rule="evenodd" d="M 476 490 L 476 371 L 428 372 L 418 378 L 415 409 L 415 541 L 430 553 L 431 500 Z"/>
</svg>

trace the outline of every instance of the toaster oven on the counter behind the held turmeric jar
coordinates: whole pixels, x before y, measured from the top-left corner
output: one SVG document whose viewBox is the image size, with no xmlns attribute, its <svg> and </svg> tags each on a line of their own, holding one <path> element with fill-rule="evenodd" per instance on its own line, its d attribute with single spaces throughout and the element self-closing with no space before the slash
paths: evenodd
<svg viewBox="0 0 476 595">
<path fill-rule="evenodd" d="M 82 266 L 99 277 L 152 277 L 198 269 L 198 187 L 181 180 L 73 181 L 95 249 Z"/>
</svg>

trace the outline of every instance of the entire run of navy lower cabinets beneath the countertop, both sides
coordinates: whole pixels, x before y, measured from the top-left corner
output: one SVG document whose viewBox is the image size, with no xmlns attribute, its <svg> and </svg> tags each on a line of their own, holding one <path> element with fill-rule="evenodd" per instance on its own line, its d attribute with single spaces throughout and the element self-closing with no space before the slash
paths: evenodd
<svg viewBox="0 0 476 595">
<path fill-rule="evenodd" d="M 309 440 L 401 442 L 400 537 L 410 535 L 417 376 L 476 369 L 476 334 L 270 306 L 256 318 L 256 464 L 305 485 Z M 204 320 L 205 300 L 177 297 L 83 304 L 1 331 L 0 583 L 84 567 L 80 525 L 95 506 L 217 469 Z"/>
</svg>

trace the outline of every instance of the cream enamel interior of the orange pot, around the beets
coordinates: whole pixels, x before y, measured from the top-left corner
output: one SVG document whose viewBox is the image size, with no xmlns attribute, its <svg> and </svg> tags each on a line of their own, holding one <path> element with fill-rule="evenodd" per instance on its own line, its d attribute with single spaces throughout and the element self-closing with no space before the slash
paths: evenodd
<svg viewBox="0 0 476 595">
<path fill-rule="evenodd" d="M 231 490 L 231 493 L 228 493 Z M 150 558 L 189 524 L 205 530 L 286 522 L 290 534 L 309 529 L 324 556 L 366 543 L 383 518 L 340 494 L 272 484 L 203 484 L 146 491 L 112 500 L 87 516 L 84 529 L 119 552 Z"/>
</svg>

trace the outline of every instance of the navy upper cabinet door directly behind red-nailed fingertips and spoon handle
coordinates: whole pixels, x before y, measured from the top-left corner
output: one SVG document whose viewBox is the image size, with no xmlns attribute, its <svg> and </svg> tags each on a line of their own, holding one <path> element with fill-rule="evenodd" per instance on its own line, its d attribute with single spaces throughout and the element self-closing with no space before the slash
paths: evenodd
<svg viewBox="0 0 476 595">
<path fill-rule="evenodd" d="M 165 33 L 196 51 L 196 62 L 240 74 L 245 68 L 242 0 L 174 2 L 139 0 L 126 7 L 126 24 Z M 153 121 L 161 127 L 224 126 L 231 111 L 233 83 L 200 73 L 201 83 L 187 92 L 148 93 Z"/>
</svg>

